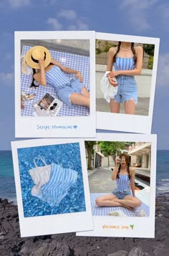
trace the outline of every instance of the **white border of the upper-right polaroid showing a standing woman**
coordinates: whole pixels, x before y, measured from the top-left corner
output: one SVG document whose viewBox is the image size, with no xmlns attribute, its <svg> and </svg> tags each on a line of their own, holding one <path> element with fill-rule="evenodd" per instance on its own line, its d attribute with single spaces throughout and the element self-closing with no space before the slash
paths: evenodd
<svg viewBox="0 0 169 256">
<path fill-rule="evenodd" d="M 132 133 L 151 133 L 160 39 L 153 38 L 153 37 L 135 37 L 135 36 L 122 35 L 122 34 L 107 34 L 107 33 L 97 33 L 97 32 L 96 32 L 96 39 L 111 40 L 111 41 L 118 41 L 118 42 L 124 41 L 124 42 L 155 44 L 148 115 L 127 115 L 122 113 L 120 114 L 105 113 L 105 112 L 99 112 L 99 111 L 97 111 L 97 114 L 96 114 L 97 129 L 110 130 L 110 131 L 125 131 L 125 132 L 132 132 Z"/>
</svg>

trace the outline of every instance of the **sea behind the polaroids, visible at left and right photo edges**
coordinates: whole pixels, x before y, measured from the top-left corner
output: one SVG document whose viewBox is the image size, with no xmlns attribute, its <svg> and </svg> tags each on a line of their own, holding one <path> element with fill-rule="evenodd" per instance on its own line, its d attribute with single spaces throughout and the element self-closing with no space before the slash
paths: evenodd
<svg viewBox="0 0 169 256">
<path fill-rule="evenodd" d="M 169 151 L 162 150 L 157 153 L 156 194 L 167 193 L 169 195 Z M 16 203 L 11 151 L 0 151 L 0 198 Z"/>
</svg>

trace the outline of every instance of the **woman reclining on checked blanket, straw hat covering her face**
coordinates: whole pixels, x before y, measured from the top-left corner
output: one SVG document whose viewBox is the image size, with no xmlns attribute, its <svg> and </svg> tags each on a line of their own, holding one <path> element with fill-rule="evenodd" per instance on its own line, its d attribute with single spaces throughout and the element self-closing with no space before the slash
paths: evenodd
<svg viewBox="0 0 169 256">
<path fill-rule="evenodd" d="M 64 67 L 53 60 L 49 50 L 42 46 L 29 49 L 25 59 L 27 65 L 34 70 L 31 87 L 36 86 L 34 80 L 44 86 L 49 83 L 55 87 L 58 98 L 69 107 L 73 107 L 74 104 L 90 107 L 90 93 L 82 84 L 82 75 L 79 71 Z M 76 74 L 76 79 L 69 79 L 65 73 Z"/>
</svg>

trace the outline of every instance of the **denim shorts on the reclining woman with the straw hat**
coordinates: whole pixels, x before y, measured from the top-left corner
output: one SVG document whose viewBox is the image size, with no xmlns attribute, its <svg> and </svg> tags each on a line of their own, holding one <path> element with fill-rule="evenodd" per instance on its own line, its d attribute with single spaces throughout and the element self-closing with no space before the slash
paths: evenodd
<svg viewBox="0 0 169 256">
<path fill-rule="evenodd" d="M 74 104 L 71 103 L 69 96 L 72 93 L 79 93 L 82 92 L 82 87 L 84 85 L 78 79 L 72 79 L 69 83 L 63 86 L 57 87 L 57 95 L 63 103 L 67 104 L 69 107 L 73 108 Z"/>
</svg>

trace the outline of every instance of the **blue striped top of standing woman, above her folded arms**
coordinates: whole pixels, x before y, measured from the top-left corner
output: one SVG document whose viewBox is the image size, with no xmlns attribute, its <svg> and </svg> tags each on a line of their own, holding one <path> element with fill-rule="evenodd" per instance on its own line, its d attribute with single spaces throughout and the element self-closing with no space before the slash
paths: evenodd
<svg viewBox="0 0 169 256">
<path fill-rule="evenodd" d="M 133 57 L 116 57 L 115 70 L 134 70 L 135 62 Z"/>
</svg>

